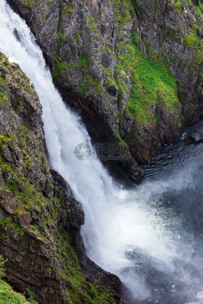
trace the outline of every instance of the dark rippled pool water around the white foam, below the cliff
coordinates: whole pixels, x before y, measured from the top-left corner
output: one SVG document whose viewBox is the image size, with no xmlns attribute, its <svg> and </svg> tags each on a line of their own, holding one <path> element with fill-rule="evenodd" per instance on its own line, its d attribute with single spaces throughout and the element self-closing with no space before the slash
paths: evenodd
<svg viewBox="0 0 203 304">
<path fill-rule="evenodd" d="M 150 290 L 142 301 L 128 295 L 133 302 L 184 304 L 203 291 L 203 171 L 199 169 L 203 165 L 203 143 L 185 146 L 183 142 L 194 130 L 203 133 L 203 120 L 185 128 L 177 145 L 163 147 L 150 165 L 142 166 L 146 178 L 139 187 L 151 189 L 149 203 L 159 202 L 156 208 L 170 219 L 167 229 L 174 241 L 179 238 L 180 245 L 174 253 L 173 269 L 168 265 L 160 269 L 159 261 L 136 248 L 126 252 L 135 264 L 135 275 L 144 277 Z"/>
</svg>

